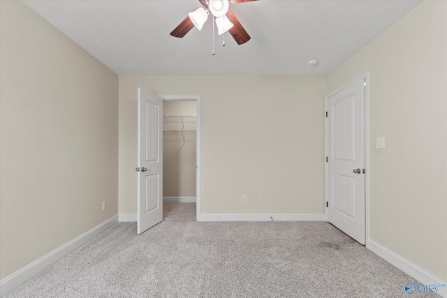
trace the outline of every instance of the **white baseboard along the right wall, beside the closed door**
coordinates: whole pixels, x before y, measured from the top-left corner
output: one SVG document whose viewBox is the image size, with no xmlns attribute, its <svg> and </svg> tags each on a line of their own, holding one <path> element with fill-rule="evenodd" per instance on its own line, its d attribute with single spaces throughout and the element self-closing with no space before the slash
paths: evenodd
<svg viewBox="0 0 447 298">
<path fill-rule="evenodd" d="M 441 278 L 434 276 L 425 269 L 422 269 L 418 265 L 415 265 L 409 260 L 406 260 L 401 255 L 390 251 L 388 248 L 382 246 L 381 244 L 378 244 L 376 241 L 368 240 L 367 248 L 369 249 L 369 251 L 372 251 L 376 255 L 379 255 L 379 257 L 390 262 L 392 265 L 401 269 L 409 276 L 415 278 L 416 281 L 420 282 L 423 285 L 447 284 L 446 281 L 443 281 Z M 402 291 L 404 291 L 404 285 L 402 285 Z M 441 297 L 447 297 L 447 288 L 439 288 L 437 294 Z"/>
</svg>

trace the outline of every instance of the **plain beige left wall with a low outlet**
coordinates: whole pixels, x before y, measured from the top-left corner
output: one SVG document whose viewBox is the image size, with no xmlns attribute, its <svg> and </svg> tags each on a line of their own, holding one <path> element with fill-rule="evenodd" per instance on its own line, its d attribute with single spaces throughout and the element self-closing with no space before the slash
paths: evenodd
<svg viewBox="0 0 447 298">
<path fill-rule="evenodd" d="M 2 279 L 117 214 L 118 76 L 20 1 L 0 11 Z"/>
</svg>

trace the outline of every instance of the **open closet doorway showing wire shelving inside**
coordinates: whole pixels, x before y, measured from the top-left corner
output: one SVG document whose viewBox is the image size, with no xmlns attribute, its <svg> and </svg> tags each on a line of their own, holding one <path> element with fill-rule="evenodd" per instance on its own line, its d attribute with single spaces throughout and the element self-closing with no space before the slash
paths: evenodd
<svg viewBox="0 0 447 298">
<path fill-rule="evenodd" d="M 200 96 L 160 97 L 163 98 L 163 218 L 197 220 L 200 214 Z"/>
</svg>

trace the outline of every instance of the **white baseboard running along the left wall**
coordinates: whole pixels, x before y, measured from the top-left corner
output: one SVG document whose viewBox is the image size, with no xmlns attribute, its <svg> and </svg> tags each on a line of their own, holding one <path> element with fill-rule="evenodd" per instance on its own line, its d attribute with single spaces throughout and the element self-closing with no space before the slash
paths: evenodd
<svg viewBox="0 0 447 298">
<path fill-rule="evenodd" d="M 84 234 L 76 237 L 75 239 L 69 241 L 63 246 L 55 249 L 51 253 L 47 253 L 42 258 L 35 260 L 31 264 L 23 267 L 19 271 L 3 278 L 0 281 L 0 296 L 5 295 L 10 290 L 17 288 L 17 286 L 21 285 L 25 281 L 29 280 L 29 278 L 35 276 L 39 272 L 47 269 L 55 262 L 59 261 L 61 258 L 64 258 L 68 253 L 71 253 L 75 249 L 79 248 L 83 244 L 86 244 L 88 241 L 96 237 L 98 234 L 101 234 L 108 228 L 111 228 L 112 225 L 118 223 L 118 216 L 115 215 L 112 218 L 104 221 L 103 223 L 96 225 L 95 228 L 85 232 Z"/>
</svg>

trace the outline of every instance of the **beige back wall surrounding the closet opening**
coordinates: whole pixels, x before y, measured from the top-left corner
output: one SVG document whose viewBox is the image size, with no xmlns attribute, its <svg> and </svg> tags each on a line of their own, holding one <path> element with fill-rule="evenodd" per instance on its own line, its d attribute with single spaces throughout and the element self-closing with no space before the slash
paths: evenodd
<svg viewBox="0 0 447 298">
<path fill-rule="evenodd" d="M 203 214 L 324 213 L 324 77 L 120 76 L 119 214 L 137 211 L 138 87 L 201 96 Z"/>
</svg>

